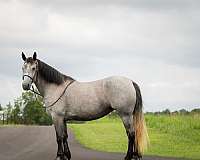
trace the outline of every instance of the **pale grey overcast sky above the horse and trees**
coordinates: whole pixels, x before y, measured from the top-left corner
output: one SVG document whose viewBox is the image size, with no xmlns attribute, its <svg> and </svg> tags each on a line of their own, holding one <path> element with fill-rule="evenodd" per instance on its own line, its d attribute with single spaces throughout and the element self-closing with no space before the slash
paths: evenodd
<svg viewBox="0 0 200 160">
<path fill-rule="evenodd" d="M 21 95 L 21 52 L 78 81 L 141 87 L 145 111 L 200 106 L 200 1 L 0 0 L 0 103 Z"/>
</svg>

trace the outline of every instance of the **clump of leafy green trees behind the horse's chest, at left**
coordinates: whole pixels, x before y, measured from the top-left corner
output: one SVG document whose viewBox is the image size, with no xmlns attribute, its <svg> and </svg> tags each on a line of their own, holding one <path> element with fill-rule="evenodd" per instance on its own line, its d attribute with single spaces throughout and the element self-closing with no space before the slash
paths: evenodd
<svg viewBox="0 0 200 160">
<path fill-rule="evenodd" d="M 1 121 L 4 124 L 26 125 L 51 125 L 52 119 L 43 108 L 42 98 L 32 92 L 23 92 L 14 100 L 14 104 L 8 103 L 5 107 L 0 105 Z"/>
</svg>

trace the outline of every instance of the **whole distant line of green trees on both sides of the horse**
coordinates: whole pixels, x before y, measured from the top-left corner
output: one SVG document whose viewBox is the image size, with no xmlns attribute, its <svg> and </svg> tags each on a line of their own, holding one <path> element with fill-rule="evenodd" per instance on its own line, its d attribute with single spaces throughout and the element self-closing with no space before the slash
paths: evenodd
<svg viewBox="0 0 200 160">
<path fill-rule="evenodd" d="M 32 92 L 23 92 L 20 97 L 14 100 L 14 104 L 8 103 L 5 107 L 0 104 L 0 124 L 26 124 L 26 125 L 51 125 L 52 119 L 43 107 L 43 101 L 40 96 Z M 146 112 L 151 115 L 200 115 L 200 108 L 187 111 L 180 109 L 171 112 L 169 109 L 158 112 Z M 117 116 L 112 112 L 109 117 Z M 77 122 L 76 122 L 77 123 Z"/>
</svg>

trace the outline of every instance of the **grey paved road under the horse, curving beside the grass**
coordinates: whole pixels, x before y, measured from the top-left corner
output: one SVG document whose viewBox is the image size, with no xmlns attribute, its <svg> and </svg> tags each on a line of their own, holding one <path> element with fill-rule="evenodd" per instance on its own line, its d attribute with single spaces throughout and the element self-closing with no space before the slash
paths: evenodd
<svg viewBox="0 0 200 160">
<path fill-rule="evenodd" d="M 69 132 L 72 160 L 123 160 L 124 154 L 104 153 L 81 147 Z M 55 132 L 52 126 L 0 127 L 0 160 L 54 160 Z M 175 160 L 144 157 L 144 160 Z M 177 160 L 177 159 L 176 159 Z"/>
</svg>

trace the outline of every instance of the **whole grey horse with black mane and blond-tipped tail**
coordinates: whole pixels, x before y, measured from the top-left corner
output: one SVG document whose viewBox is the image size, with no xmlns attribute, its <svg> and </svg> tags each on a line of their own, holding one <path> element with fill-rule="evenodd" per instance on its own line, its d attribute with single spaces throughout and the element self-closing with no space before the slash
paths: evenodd
<svg viewBox="0 0 200 160">
<path fill-rule="evenodd" d="M 116 110 L 128 136 L 125 160 L 142 159 L 148 144 L 148 134 L 142 111 L 139 86 L 132 80 L 112 76 L 93 82 L 78 82 L 37 59 L 34 52 L 26 58 L 22 87 L 30 90 L 34 83 L 52 116 L 58 144 L 56 160 L 70 160 L 67 138 L 68 120 L 90 121 Z M 95 159 L 95 157 L 94 157 Z"/>
</svg>

